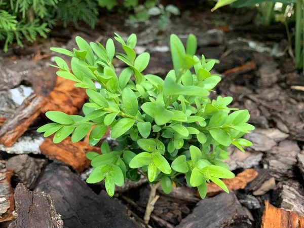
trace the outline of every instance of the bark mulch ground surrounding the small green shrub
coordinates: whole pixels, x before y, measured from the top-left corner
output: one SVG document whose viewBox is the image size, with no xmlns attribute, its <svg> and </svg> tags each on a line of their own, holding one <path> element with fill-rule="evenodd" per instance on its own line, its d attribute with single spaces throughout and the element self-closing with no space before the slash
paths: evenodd
<svg viewBox="0 0 304 228">
<path fill-rule="evenodd" d="M 136 52 L 151 54 L 144 73 L 161 77 L 172 69 L 170 34 L 179 35 L 185 42 L 186 35 L 194 33 L 198 37 L 197 54 L 220 60 L 213 72 L 222 74 L 222 81 L 211 98 L 232 96 L 232 106 L 248 109 L 249 123 L 256 127 L 245 136 L 253 142 L 245 153 L 229 148 L 227 163 L 231 171 L 238 174 L 234 182 L 226 183 L 232 190 L 229 195 L 212 185 L 209 197 L 204 200 L 200 200 L 195 188 L 185 184 L 177 184 L 169 195 L 159 188 L 160 198 L 149 225 L 304 227 L 304 75 L 294 69 L 285 28 L 281 24 L 267 28 L 257 25 L 254 10 L 224 8 L 211 13 L 204 6 L 186 6 L 180 17 L 172 18 L 165 31 L 159 31 L 155 19 L 126 24 L 126 15 L 107 13 L 94 30 L 85 26 L 58 26 L 48 39 L 27 44 L 23 49 L 12 46 L 8 53 L 0 51 L 0 156 L 3 160 L 0 184 L 6 184 L 5 189 L 0 187 L 3 227 L 27 227 L 20 226 L 20 219 L 33 222 L 37 216 L 46 217 L 52 223 L 52 226 L 42 223 L 39 226 L 42 228 L 62 227 L 62 221 L 63 227 L 74 228 L 146 226 L 143 215 L 149 185 L 144 178 L 137 183 L 127 182 L 117 189 L 114 199 L 109 198 L 102 182 L 86 184 L 83 181 L 91 171 L 85 154 L 99 152 L 98 147 L 88 146 L 86 139 L 72 144 L 69 138 L 55 146 L 35 132 L 47 123 L 46 111 L 80 113 L 87 99 L 83 90 L 73 89 L 69 82 L 56 78 L 56 70 L 49 64 L 57 54 L 51 52 L 50 47 L 71 50 L 77 35 L 88 42 L 104 44 L 113 32 L 123 37 L 136 33 Z M 115 66 L 117 71 L 125 67 L 119 61 L 115 61 Z M 112 143 L 115 142 L 110 141 Z M 15 189 L 18 183 L 34 193 L 27 192 L 23 185 Z M 184 183 L 183 177 L 180 183 Z M 15 193 L 16 211 L 12 200 L 15 190 L 18 193 Z M 50 197 L 41 195 L 42 192 Z M 22 202 L 29 208 L 35 205 L 28 197 L 42 198 L 49 208 L 30 210 L 31 214 L 26 214 Z M 58 214 L 59 222 L 54 222 L 53 217 Z M 281 220 L 273 221 L 272 217 L 276 220 L 273 214 L 281 214 Z M 295 223 L 300 225 L 292 226 Z"/>
</svg>

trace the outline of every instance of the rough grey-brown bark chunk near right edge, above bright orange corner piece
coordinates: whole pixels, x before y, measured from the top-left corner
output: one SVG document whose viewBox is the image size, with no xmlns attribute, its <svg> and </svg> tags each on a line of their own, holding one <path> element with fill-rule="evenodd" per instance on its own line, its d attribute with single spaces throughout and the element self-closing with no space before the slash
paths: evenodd
<svg viewBox="0 0 304 228">
<path fill-rule="evenodd" d="M 279 146 L 268 151 L 266 160 L 269 163 L 271 175 L 278 180 L 293 177 L 296 156 L 299 152 L 297 142 L 290 140 L 284 140 L 279 143 Z"/>
</svg>

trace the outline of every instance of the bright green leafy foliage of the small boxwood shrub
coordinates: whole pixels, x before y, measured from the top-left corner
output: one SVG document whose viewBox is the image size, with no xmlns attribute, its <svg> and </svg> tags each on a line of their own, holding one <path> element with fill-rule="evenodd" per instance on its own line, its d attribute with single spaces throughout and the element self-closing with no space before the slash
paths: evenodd
<svg viewBox="0 0 304 228">
<path fill-rule="evenodd" d="M 53 66 L 59 68 L 59 77 L 85 88 L 89 102 L 83 106 L 84 117 L 48 111 L 46 116 L 54 123 L 37 131 L 45 132 L 45 137 L 54 134 L 54 143 L 70 134 L 72 142 L 78 142 L 93 128 L 89 143 L 94 146 L 109 127 L 118 146 L 110 151 L 103 142 L 102 155 L 87 154 L 94 168 L 87 182 L 105 178 L 109 196 L 113 196 L 115 185 L 122 186 L 126 178 L 137 181 L 141 174 L 151 183 L 161 182 L 165 193 L 171 192 L 180 174 L 185 174 L 188 186 L 198 187 L 202 198 L 210 181 L 228 193 L 221 180 L 234 177 L 222 161 L 228 158 L 227 147 L 233 144 L 244 151 L 242 146 L 250 146 L 251 142 L 241 137 L 254 127 L 247 124 L 248 110 L 227 107 L 232 97 L 208 98 L 221 80 L 220 75 L 210 73 L 215 60 L 195 55 L 195 35 L 188 36 L 184 47 L 178 36 L 172 34 L 174 69 L 163 80 L 143 73 L 150 56 L 136 55 L 135 34 L 126 42 L 116 34 L 115 40 L 124 53 L 116 53 L 112 39 L 104 47 L 76 37 L 79 50 L 52 48 L 72 57 L 71 71 L 59 57 L 55 58 L 57 66 Z M 115 55 L 127 65 L 119 77 L 112 64 Z"/>
</svg>

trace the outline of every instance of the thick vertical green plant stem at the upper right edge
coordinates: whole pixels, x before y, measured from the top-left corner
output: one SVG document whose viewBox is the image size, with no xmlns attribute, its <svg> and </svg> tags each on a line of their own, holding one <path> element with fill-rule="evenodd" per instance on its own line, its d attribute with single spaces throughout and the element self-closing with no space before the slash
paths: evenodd
<svg viewBox="0 0 304 228">
<path fill-rule="evenodd" d="M 301 19 L 302 19 L 302 0 L 296 0 L 295 5 L 295 68 L 299 68 L 301 57 Z"/>
</svg>

